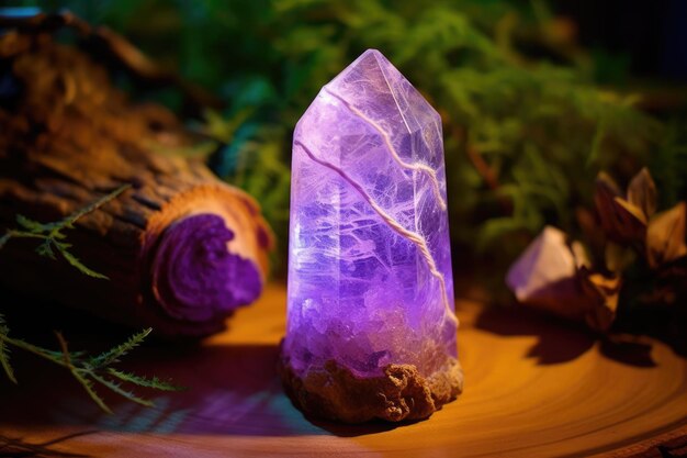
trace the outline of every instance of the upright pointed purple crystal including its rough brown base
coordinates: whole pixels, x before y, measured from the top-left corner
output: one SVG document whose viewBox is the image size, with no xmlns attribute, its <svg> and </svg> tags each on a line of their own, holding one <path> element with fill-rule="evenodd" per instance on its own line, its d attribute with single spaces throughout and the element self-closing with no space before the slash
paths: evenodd
<svg viewBox="0 0 687 458">
<path fill-rule="evenodd" d="M 430 415 L 462 387 L 439 114 L 370 49 L 301 118 L 292 160 L 286 388 L 349 422 Z"/>
</svg>

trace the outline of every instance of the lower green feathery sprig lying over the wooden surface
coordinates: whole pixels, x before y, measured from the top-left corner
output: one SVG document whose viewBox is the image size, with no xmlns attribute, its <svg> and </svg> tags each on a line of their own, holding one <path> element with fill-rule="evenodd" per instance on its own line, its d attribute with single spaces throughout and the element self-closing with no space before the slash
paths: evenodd
<svg viewBox="0 0 687 458">
<path fill-rule="evenodd" d="M 183 387 L 173 384 L 170 381 L 160 380 L 157 377 L 147 378 L 121 371 L 114 367 L 120 362 L 120 358 L 138 346 L 153 329 L 147 328 L 134 334 L 128 340 L 102 353 L 98 356 L 88 356 L 85 351 L 69 351 L 67 340 L 61 333 L 55 333 L 59 344 L 59 350 L 50 350 L 37 345 L 30 344 L 20 338 L 10 337 L 10 329 L 0 315 L 0 365 L 7 377 L 18 383 L 14 369 L 10 364 L 10 347 L 19 348 L 32 353 L 43 359 L 47 359 L 58 366 L 69 370 L 71 376 L 83 387 L 88 395 L 108 413 L 112 413 L 104 400 L 95 391 L 95 384 L 99 383 L 110 391 L 127 399 L 128 401 L 145 406 L 153 406 L 153 402 L 139 396 L 135 392 L 127 389 L 124 383 L 136 387 L 149 388 L 160 391 L 180 391 Z"/>
</svg>

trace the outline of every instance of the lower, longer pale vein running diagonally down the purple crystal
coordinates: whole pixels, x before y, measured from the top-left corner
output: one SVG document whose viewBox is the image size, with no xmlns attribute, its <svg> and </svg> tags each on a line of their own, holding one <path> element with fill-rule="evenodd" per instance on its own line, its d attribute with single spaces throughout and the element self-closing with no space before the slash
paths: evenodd
<svg viewBox="0 0 687 458">
<path fill-rule="evenodd" d="M 296 141 L 294 141 L 294 145 L 300 146 L 303 149 L 303 152 L 306 154 L 306 156 L 309 157 L 314 163 L 319 164 L 323 167 L 327 167 L 328 169 L 335 171 L 341 178 L 344 178 L 344 180 L 346 182 L 348 182 L 353 189 L 356 189 L 358 191 L 358 193 L 360 193 L 360 196 L 363 198 L 363 200 L 365 202 L 368 202 L 368 204 L 372 208 L 372 210 L 374 210 L 374 212 L 394 232 L 396 232 L 398 235 L 401 235 L 402 237 L 404 237 L 405 239 L 407 239 L 408 242 L 410 242 L 412 244 L 414 244 L 417 247 L 417 249 L 423 255 L 423 258 L 427 262 L 427 267 L 429 268 L 429 272 L 431 273 L 432 277 L 435 277 L 437 279 L 437 281 L 439 282 L 439 287 L 441 288 L 441 297 L 442 297 L 442 300 L 443 300 L 443 309 L 444 309 L 444 319 L 448 317 L 453 323 L 458 324 L 458 317 L 455 316 L 455 313 L 453 312 L 453 310 L 451 310 L 451 302 L 449 301 L 449 297 L 448 297 L 448 293 L 447 293 L 447 290 L 446 290 L 446 280 L 443 279 L 443 275 L 441 275 L 441 272 L 437 269 L 437 265 L 435 264 L 435 259 L 432 258 L 431 253 L 429 253 L 429 248 L 427 247 L 427 242 L 425 241 L 425 238 L 421 235 L 419 235 L 419 234 L 417 234 L 415 232 L 408 231 L 405 227 L 403 227 L 396 220 L 394 220 L 394 217 L 392 215 L 386 213 L 384 211 L 384 209 L 382 209 L 374 201 L 374 199 L 372 199 L 372 197 L 370 194 L 368 194 L 368 192 L 363 189 L 362 186 L 360 186 L 356 180 L 353 180 L 351 177 L 349 177 L 344 170 L 341 170 L 340 168 L 338 168 L 334 164 L 330 164 L 330 163 L 327 163 L 326 160 L 317 158 L 313 154 L 313 152 L 311 152 L 309 148 L 307 146 L 305 146 L 302 142 L 296 139 Z"/>
</svg>

